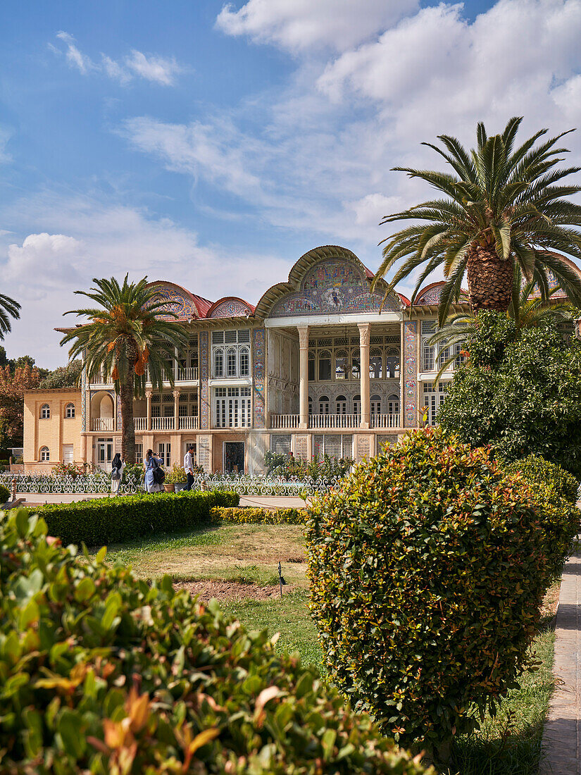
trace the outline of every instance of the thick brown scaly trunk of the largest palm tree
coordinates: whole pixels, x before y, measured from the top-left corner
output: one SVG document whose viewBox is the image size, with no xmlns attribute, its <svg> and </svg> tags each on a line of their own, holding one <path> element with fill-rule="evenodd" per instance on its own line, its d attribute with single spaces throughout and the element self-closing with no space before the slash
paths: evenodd
<svg viewBox="0 0 581 775">
<path fill-rule="evenodd" d="M 468 294 L 476 315 L 481 309 L 507 312 L 512 298 L 513 261 L 498 257 L 493 245 L 468 250 Z"/>
</svg>

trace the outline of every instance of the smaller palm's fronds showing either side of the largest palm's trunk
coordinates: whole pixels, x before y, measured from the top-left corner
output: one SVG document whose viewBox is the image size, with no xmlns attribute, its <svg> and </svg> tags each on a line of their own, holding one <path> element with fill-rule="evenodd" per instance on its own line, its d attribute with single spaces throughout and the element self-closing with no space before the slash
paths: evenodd
<svg viewBox="0 0 581 775">
<path fill-rule="evenodd" d="M 578 314 L 578 311 L 572 305 L 568 303 L 551 304 L 551 297 L 559 290 L 559 286 L 552 288 L 545 298 L 531 295 L 535 291 L 535 281 L 524 281 L 521 267 L 516 264 L 514 267 L 513 293 L 511 304 L 507 309 L 507 317 L 514 319 L 517 331 L 571 322 L 573 316 Z M 438 345 L 438 353 L 435 356 L 436 361 L 438 361 L 442 353 L 445 353 L 445 350 L 449 350 L 449 353 L 452 353 L 442 359 L 442 366 L 436 375 L 436 382 L 443 372 L 452 366 L 455 360 L 462 357 L 456 352 L 456 345 L 462 346 L 466 343 L 470 336 L 476 333 L 477 326 L 478 318 L 476 315 L 467 315 L 466 312 L 460 312 L 456 315 L 450 315 L 442 328 L 438 329 L 428 339 L 428 345 Z"/>
</svg>

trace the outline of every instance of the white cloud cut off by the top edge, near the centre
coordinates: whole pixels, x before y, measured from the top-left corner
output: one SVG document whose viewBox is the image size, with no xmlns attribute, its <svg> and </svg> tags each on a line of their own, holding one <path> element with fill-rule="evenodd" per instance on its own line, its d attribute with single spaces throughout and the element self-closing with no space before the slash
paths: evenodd
<svg viewBox="0 0 581 775">
<path fill-rule="evenodd" d="M 418 8 L 418 0 L 249 0 L 225 5 L 216 26 L 297 53 L 312 47 L 342 51 L 367 40 Z"/>
</svg>

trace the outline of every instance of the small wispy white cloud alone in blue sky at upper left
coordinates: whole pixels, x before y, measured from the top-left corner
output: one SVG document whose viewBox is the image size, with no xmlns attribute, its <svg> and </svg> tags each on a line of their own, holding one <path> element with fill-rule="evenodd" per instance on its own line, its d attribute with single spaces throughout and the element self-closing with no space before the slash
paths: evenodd
<svg viewBox="0 0 581 775">
<path fill-rule="evenodd" d="M 160 84 L 161 86 L 173 86 L 177 74 L 183 71 L 183 67 L 172 57 L 165 59 L 153 54 L 145 54 L 142 51 L 132 49 L 122 60 L 114 60 L 101 53 L 101 62 L 95 62 L 79 50 L 74 37 L 70 33 L 57 33 L 57 38 L 62 40 L 66 49 L 64 51 L 70 67 L 76 68 L 81 74 L 101 72 L 120 84 L 129 84 L 135 77 Z M 49 44 L 55 53 L 63 53 L 59 48 Z"/>
</svg>

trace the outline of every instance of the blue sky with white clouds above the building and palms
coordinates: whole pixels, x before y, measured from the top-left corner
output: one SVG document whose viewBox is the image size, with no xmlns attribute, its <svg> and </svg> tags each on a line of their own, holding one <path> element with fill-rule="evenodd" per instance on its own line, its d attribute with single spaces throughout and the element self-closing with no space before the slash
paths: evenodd
<svg viewBox="0 0 581 775">
<path fill-rule="evenodd" d="M 426 194 L 390 167 L 438 164 L 422 140 L 581 119 L 581 0 L 25 0 L 0 22 L 5 346 L 47 367 L 91 277 L 256 302 L 318 245 L 375 269 L 380 216 Z"/>
</svg>

